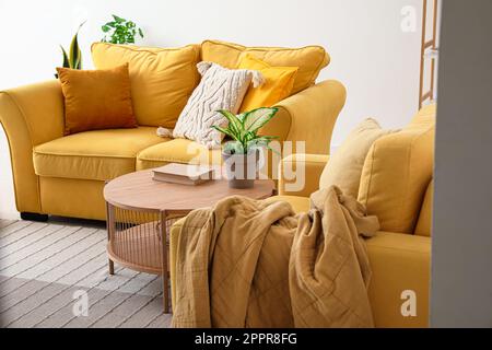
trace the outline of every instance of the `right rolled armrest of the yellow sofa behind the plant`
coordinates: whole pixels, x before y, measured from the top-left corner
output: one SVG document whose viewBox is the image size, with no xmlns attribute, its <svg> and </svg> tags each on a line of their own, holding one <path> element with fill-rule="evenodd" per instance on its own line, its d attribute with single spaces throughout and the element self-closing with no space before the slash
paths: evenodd
<svg viewBox="0 0 492 350">
<path fill-rule="evenodd" d="M 306 142 L 304 150 L 294 148 L 293 152 L 328 154 L 331 132 L 345 97 L 345 88 L 335 80 L 307 88 L 278 103 L 279 112 L 260 133 Z"/>
</svg>

